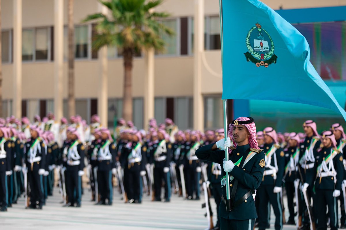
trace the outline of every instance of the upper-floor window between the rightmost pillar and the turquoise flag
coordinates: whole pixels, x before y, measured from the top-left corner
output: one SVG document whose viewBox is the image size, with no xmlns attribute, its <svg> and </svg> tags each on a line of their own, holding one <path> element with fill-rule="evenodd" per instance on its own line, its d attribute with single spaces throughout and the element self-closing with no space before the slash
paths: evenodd
<svg viewBox="0 0 346 230">
<path fill-rule="evenodd" d="M 206 50 L 221 49 L 220 17 L 206 17 L 204 21 L 205 37 L 204 48 Z"/>
</svg>

